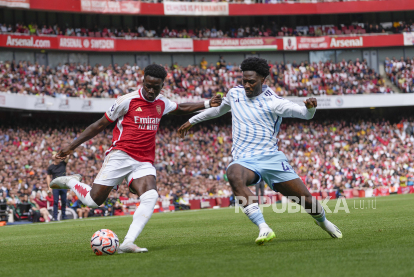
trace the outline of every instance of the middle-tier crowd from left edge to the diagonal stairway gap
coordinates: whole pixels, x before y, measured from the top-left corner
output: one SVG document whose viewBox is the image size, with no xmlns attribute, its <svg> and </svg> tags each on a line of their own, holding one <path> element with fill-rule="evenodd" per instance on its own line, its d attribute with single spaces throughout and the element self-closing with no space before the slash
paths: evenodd
<svg viewBox="0 0 414 277">
<path fill-rule="evenodd" d="M 367 62 L 342 60 L 296 63 L 269 61 L 266 84 L 280 96 L 392 93 L 385 80 Z M 216 64 L 203 58 L 200 65 L 165 65 L 168 72 L 164 95 L 174 99 L 225 95 L 241 83 L 238 65 L 220 56 Z M 0 91 L 53 97 L 116 98 L 142 86 L 142 70 L 136 65 L 86 65 L 67 63 L 56 68 L 19 61 L 0 62 Z"/>
</svg>

